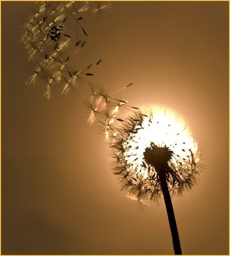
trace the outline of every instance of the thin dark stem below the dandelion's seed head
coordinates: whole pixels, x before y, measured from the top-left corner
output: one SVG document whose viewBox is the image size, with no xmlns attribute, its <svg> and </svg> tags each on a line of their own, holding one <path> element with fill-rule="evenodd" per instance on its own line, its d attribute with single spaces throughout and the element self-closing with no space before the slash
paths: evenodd
<svg viewBox="0 0 230 256">
<path fill-rule="evenodd" d="M 172 205 L 171 197 L 169 194 L 165 174 L 164 173 L 159 174 L 159 179 L 160 179 L 160 184 L 161 184 L 161 188 L 164 196 L 164 203 L 167 210 L 168 222 L 171 230 L 174 252 L 175 252 L 175 255 L 182 255 L 181 243 L 180 243 L 179 233 L 177 229 L 177 222 L 175 219 L 173 205 Z"/>
</svg>

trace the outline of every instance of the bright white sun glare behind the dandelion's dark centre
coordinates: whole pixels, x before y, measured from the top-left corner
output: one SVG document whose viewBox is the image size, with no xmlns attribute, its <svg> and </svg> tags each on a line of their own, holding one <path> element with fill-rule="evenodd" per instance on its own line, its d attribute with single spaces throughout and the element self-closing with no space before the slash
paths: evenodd
<svg viewBox="0 0 230 256">
<path fill-rule="evenodd" d="M 188 128 L 174 112 L 163 108 L 152 110 L 154 114 L 151 117 L 144 116 L 142 124 L 135 127 L 137 133 L 125 142 L 130 148 L 126 152 L 126 160 L 131 163 L 138 156 L 135 164 L 141 165 L 145 149 L 153 142 L 158 147 L 168 147 L 184 162 L 188 152 L 197 151 L 197 143 Z"/>
</svg>

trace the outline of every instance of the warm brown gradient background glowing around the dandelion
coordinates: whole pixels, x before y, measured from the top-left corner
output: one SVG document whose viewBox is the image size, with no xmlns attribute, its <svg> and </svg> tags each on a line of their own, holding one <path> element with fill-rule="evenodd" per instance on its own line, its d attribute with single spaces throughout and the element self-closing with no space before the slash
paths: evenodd
<svg viewBox="0 0 230 256">
<path fill-rule="evenodd" d="M 183 254 L 229 254 L 228 2 L 113 2 L 85 20 L 75 64 L 103 59 L 92 82 L 131 105 L 177 111 L 206 169 L 174 198 Z M 85 123 L 85 88 L 43 99 L 19 44 L 31 2 L 1 2 L 2 254 L 174 254 L 164 204 L 138 210 L 110 171 L 108 146 Z M 75 27 L 73 27 L 73 30 Z M 86 85 L 85 85 L 86 86 Z"/>
</svg>

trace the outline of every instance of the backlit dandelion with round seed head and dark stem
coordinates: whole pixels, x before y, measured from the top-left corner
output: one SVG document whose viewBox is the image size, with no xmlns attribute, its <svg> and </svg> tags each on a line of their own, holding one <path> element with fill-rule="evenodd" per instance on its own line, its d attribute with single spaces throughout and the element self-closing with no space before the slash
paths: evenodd
<svg viewBox="0 0 230 256">
<path fill-rule="evenodd" d="M 174 251 L 182 254 L 170 193 L 181 195 L 197 183 L 197 140 L 176 114 L 163 109 L 135 112 L 118 131 L 111 153 L 121 189 L 137 200 L 163 195 Z"/>
</svg>

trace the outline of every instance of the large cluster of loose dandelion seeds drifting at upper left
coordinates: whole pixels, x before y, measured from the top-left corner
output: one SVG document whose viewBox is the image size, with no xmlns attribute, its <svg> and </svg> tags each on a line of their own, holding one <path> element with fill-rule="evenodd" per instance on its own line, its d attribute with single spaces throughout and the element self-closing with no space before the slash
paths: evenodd
<svg viewBox="0 0 230 256">
<path fill-rule="evenodd" d="M 100 9 L 111 7 L 111 4 L 99 4 Z M 34 86 L 37 80 L 46 86 L 44 97 L 50 99 L 53 88 L 66 94 L 69 90 L 78 91 L 82 76 L 92 76 L 89 69 L 97 67 L 90 64 L 86 68 L 73 68 L 70 64 L 74 54 L 84 47 L 86 30 L 82 21 L 88 15 L 95 15 L 95 8 L 90 8 L 88 1 L 36 2 L 35 11 L 21 26 L 21 42 L 28 51 L 28 61 L 33 62 L 34 72 L 26 82 Z M 71 22 L 66 22 L 66 20 Z M 67 28 L 73 24 L 75 33 Z M 71 56 L 71 58 L 70 58 Z"/>
</svg>

